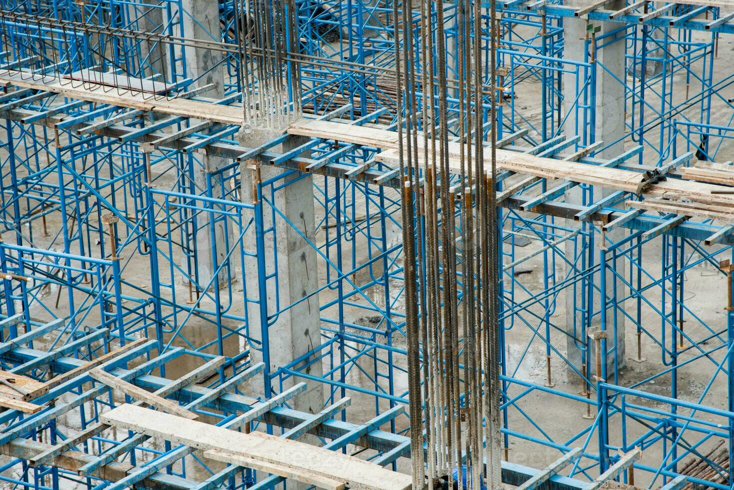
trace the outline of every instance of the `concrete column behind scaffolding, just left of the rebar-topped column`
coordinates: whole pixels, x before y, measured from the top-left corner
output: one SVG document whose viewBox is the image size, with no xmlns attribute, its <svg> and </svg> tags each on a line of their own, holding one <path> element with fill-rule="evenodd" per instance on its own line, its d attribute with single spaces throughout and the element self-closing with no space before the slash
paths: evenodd
<svg viewBox="0 0 734 490">
<path fill-rule="evenodd" d="M 221 40 L 221 26 L 219 24 L 219 4 L 216 1 L 183 0 L 183 9 L 187 14 L 181 13 L 183 17 L 183 29 L 185 37 L 200 40 Z M 203 87 L 208 84 L 216 84 L 214 89 L 206 92 L 207 97 L 220 99 L 224 97 L 224 65 L 222 65 L 222 54 L 208 49 L 186 46 L 185 48 L 186 75 L 195 80 L 194 87 Z M 195 124 L 198 121 L 193 121 Z M 211 193 L 207 193 L 207 174 L 216 172 L 229 161 L 217 156 L 208 156 L 206 153 L 198 153 L 197 159 L 202 165 L 195 164 L 193 179 L 195 192 L 207 195 L 215 199 L 222 198 L 221 183 L 215 177 L 212 182 Z M 212 174 L 214 175 L 214 174 Z M 197 233 L 195 236 L 197 250 L 197 273 L 199 284 L 204 285 L 211 281 L 214 270 L 221 266 L 227 255 L 225 249 L 225 228 L 222 222 L 215 225 L 214 241 L 217 244 L 216 256 L 212 253 L 213 245 L 211 238 L 210 213 L 200 213 L 197 216 Z M 215 216 L 219 218 L 220 216 Z M 224 271 L 219 273 L 219 285 L 224 287 L 228 277 Z"/>
</svg>

